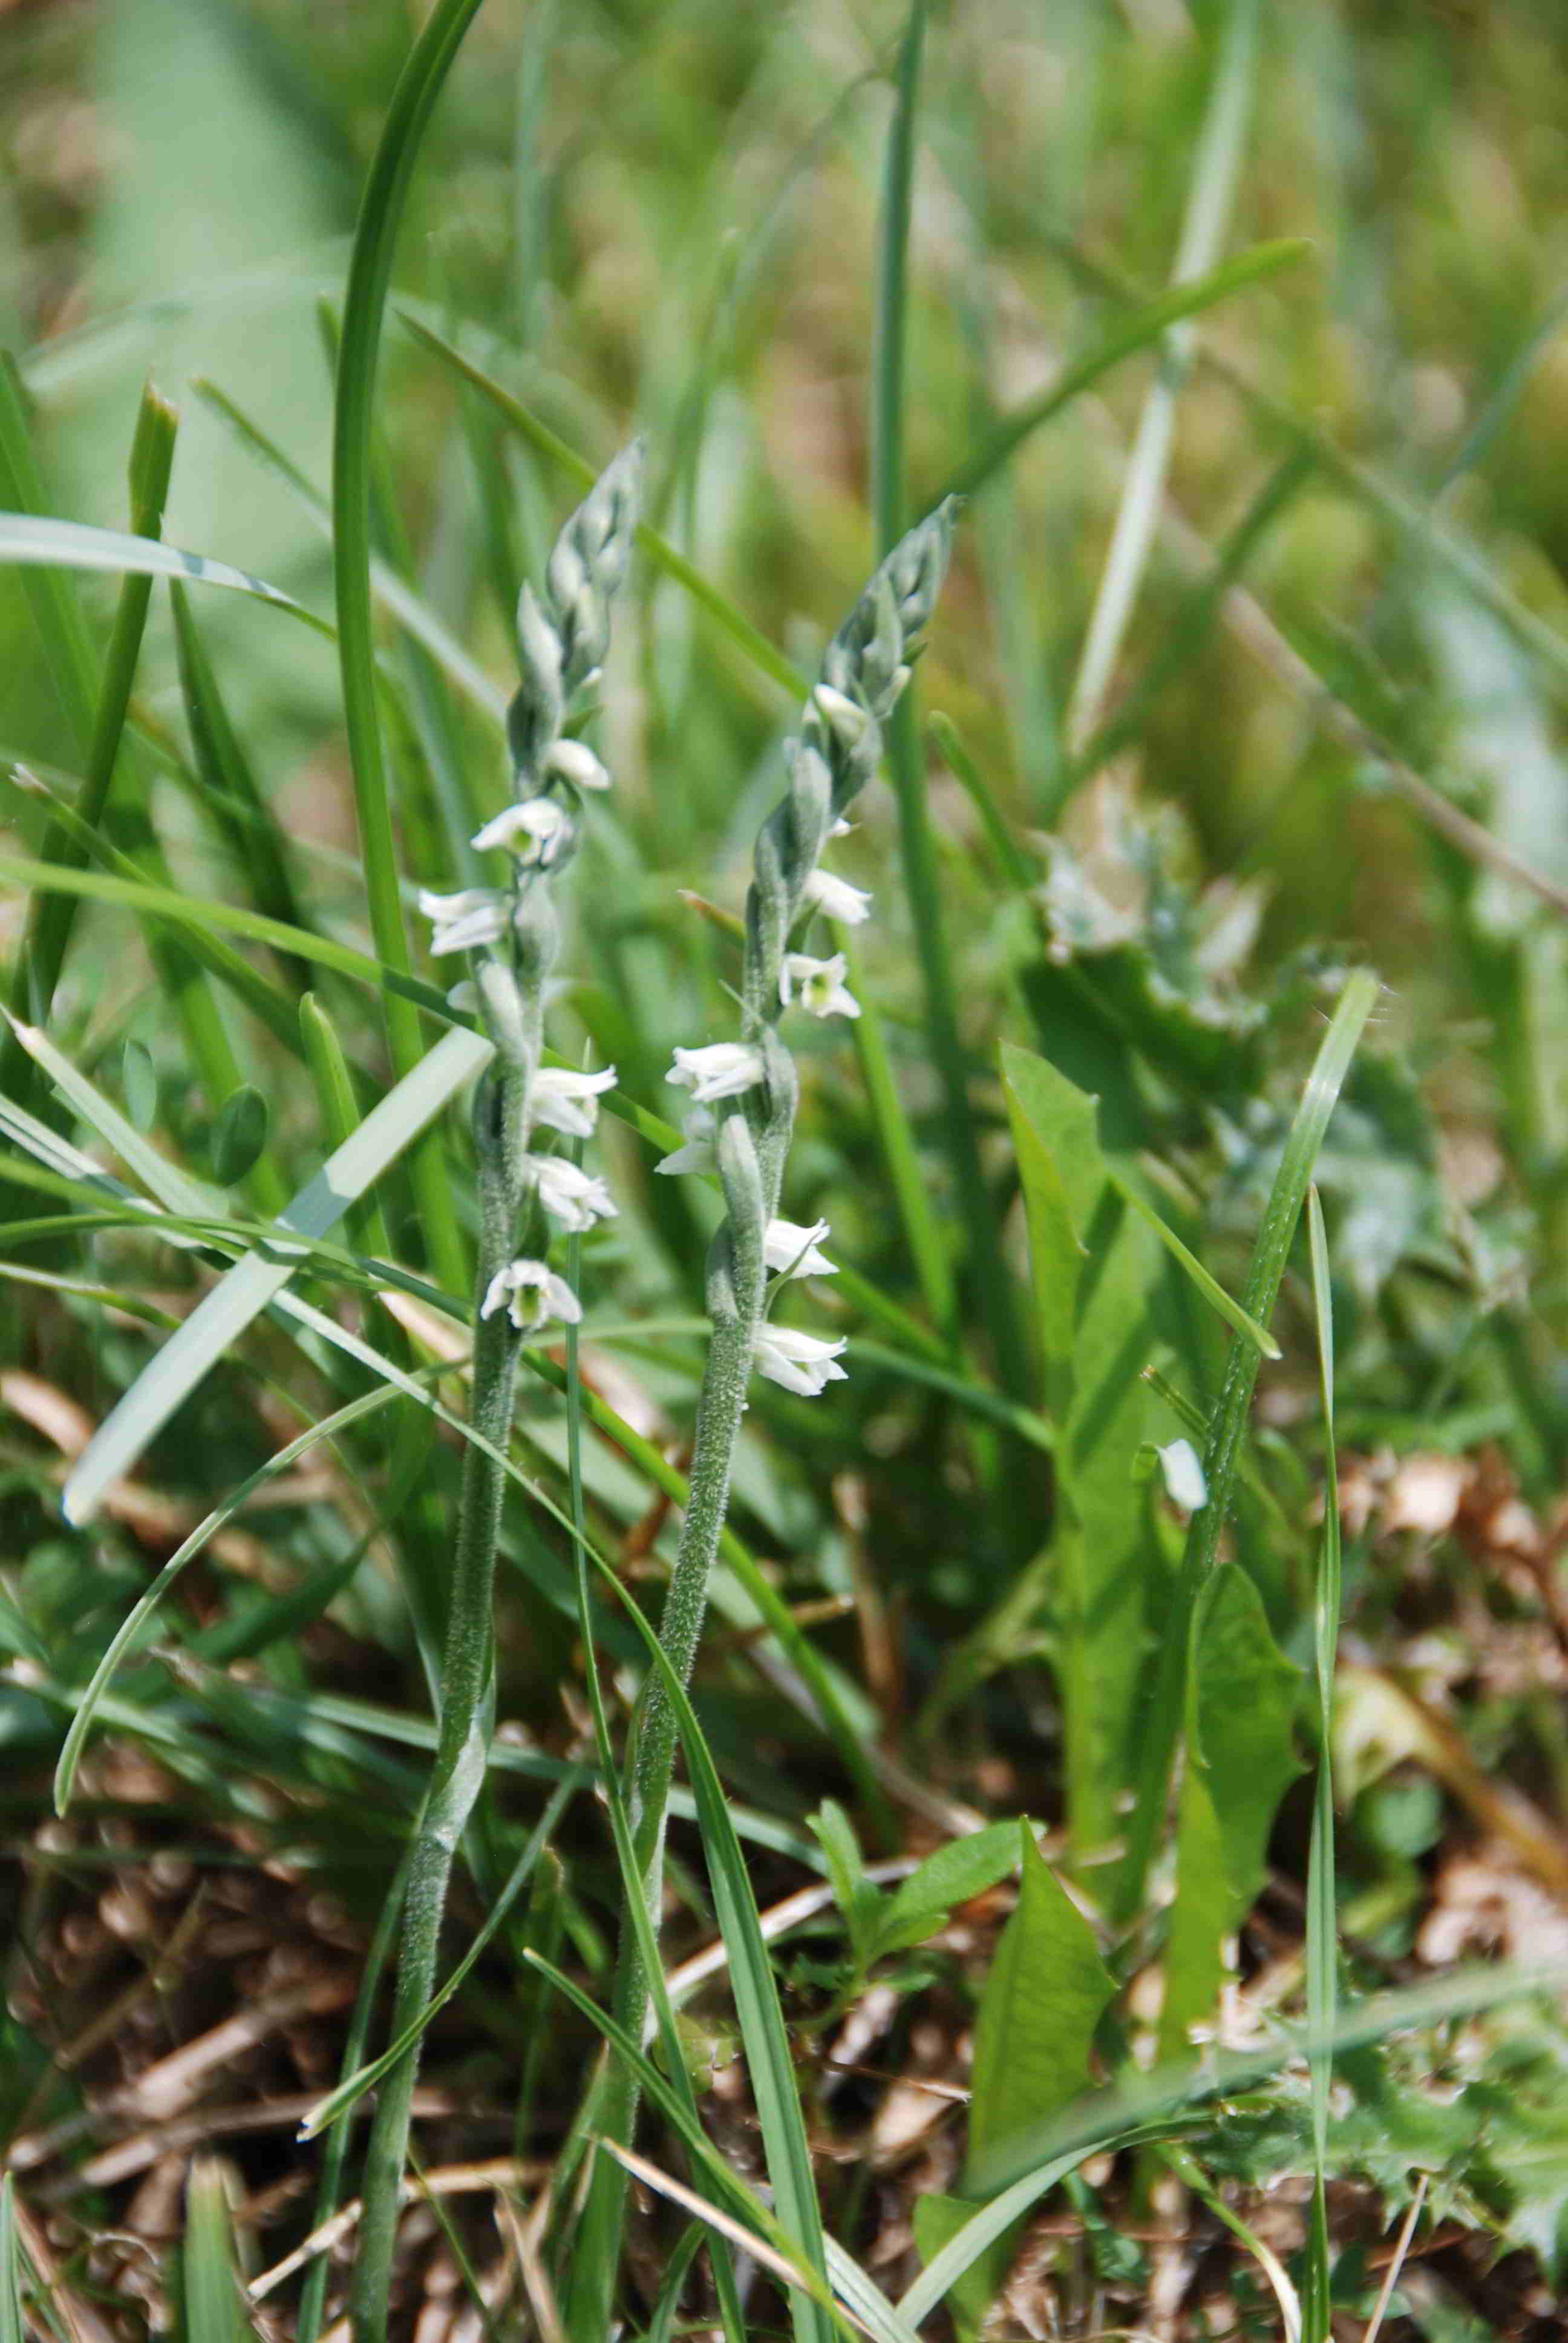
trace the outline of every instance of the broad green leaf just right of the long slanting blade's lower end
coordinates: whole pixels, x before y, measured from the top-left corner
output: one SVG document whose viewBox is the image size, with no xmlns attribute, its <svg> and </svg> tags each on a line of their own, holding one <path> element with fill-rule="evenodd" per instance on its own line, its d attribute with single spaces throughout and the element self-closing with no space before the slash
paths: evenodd
<svg viewBox="0 0 1568 2343">
<path fill-rule="evenodd" d="M 1268 1633 L 1263 1598 L 1245 1570 L 1226 1567 L 1209 1582 L 1193 1649 L 1160 2013 L 1167 2057 L 1186 2048 L 1193 2024 L 1214 2015 L 1226 1938 L 1252 1910 L 1275 1809 L 1301 1771 L 1294 1741 L 1301 1671 Z"/>
</svg>

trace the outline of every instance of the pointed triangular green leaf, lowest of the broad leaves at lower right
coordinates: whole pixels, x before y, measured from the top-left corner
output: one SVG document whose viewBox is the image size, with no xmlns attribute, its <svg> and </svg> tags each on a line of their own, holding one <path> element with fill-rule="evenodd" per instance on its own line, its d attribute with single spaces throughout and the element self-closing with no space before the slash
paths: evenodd
<svg viewBox="0 0 1568 2343">
<path fill-rule="evenodd" d="M 975 2020 L 970 2172 L 1015 2132 L 1076 2099 L 1090 2043 L 1116 1992 L 1095 1931 L 1057 1881 L 1027 1823 L 1017 1912 L 1001 1933 Z"/>
</svg>

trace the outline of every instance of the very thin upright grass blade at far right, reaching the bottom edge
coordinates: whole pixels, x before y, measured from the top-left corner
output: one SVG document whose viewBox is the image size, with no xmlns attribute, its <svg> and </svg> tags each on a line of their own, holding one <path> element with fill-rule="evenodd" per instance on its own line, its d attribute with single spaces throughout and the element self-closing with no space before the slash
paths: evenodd
<svg viewBox="0 0 1568 2343">
<path fill-rule="evenodd" d="M 1338 2008 L 1338 1926 L 1334 1879 L 1334 1661 L 1341 1610 L 1338 1455 L 1334 1441 L 1334 1289 L 1329 1284 L 1329 1232 L 1317 1188 L 1308 1190 L 1308 1237 L 1313 1249 L 1313 1307 L 1317 1314 L 1317 1373 L 1324 1420 L 1322 1556 L 1317 1563 L 1315 1657 L 1317 1657 L 1317 1783 L 1313 1797 L 1313 1846 L 1308 1853 L 1305 1973 L 1308 2024 L 1320 2038 L 1334 2036 Z M 1334 2052 L 1310 2059 L 1313 2076 L 1313 2216 L 1305 2259 L 1305 2338 L 1329 2343 L 1329 2085 Z"/>
</svg>

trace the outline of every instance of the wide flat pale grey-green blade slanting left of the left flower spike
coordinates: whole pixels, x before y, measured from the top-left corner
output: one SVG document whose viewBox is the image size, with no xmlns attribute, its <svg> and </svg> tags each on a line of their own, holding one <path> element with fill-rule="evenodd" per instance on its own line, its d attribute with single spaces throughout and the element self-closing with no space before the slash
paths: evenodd
<svg viewBox="0 0 1568 2343">
<path fill-rule="evenodd" d="M 49 1050 L 49 1057 L 54 1059 L 59 1052 Z M 279 1230 L 293 1230 L 300 1237 L 323 1237 L 347 1207 L 359 1202 L 370 1181 L 380 1179 L 387 1164 L 396 1162 L 403 1148 L 441 1113 L 452 1092 L 478 1073 L 488 1057 L 490 1043 L 483 1036 L 459 1029 L 445 1033 L 420 1059 L 413 1073 L 403 1075 L 380 1106 L 366 1115 L 354 1136 L 345 1139 L 316 1176 L 300 1188 L 293 1202 L 279 1214 Z M 124 1129 L 136 1139 L 129 1125 Z M 105 1132 L 105 1136 L 110 1134 Z M 120 1146 L 120 1139 L 110 1139 L 110 1143 Z M 169 1172 L 162 1157 L 159 1167 L 164 1174 Z M 213 1286 L 206 1300 L 192 1310 L 180 1331 L 164 1343 L 157 1359 L 136 1378 L 82 1450 L 75 1471 L 66 1481 L 63 1511 L 68 1521 L 82 1523 L 91 1518 L 105 1488 L 131 1469 L 148 1441 L 169 1422 L 180 1401 L 244 1333 L 251 1319 L 288 1284 L 298 1265 L 300 1256 L 284 1246 L 267 1256 L 246 1254 Z"/>
</svg>

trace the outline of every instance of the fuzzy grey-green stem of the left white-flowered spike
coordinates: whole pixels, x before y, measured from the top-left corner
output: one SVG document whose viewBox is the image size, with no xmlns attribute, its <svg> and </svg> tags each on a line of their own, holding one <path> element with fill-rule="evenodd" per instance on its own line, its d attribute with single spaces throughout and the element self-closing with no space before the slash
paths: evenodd
<svg viewBox="0 0 1568 2343">
<path fill-rule="evenodd" d="M 469 1422 L 499 1455 L 506 1453 L 511 1439 L 511 1408 L 523 1345 L 506 1312 L 480 1317 L 480 1303 L 495 1272 L 511 1258 L 520 1186 L 518 1136 L 523 1134 L 527 1111 L 527 1066 L 509 1066 L 480 1087 L 476 1104 L 480 1261 L 473 1293 L 473 1399 Z M 464 1446 L 457 1560 L 452 1567 L 441 1666 L 441 1739 L 408 1870 L 391 2041 L 422 2017 L 436 1987 L 436 1954 L 441 1947 L 441 1919 L 452 1877 L 452 1858 L 485 1781 L 492 1701 L 490 1591 L 495 1582 L 495 1546 L 502 1530 L 504 1485 L 506 1476 L 497 1457 L 469 1441 Z M 387 2336 L 391 2252 L 398 2228 L 417 2064 L 417 2045 L 413 2045 L 408 2057 L 382 2083 L 366 2149 L 361 2179 L 363 2219 L 354 2263 L 356 2343 L 384 2343 Z"/>
</svg>

